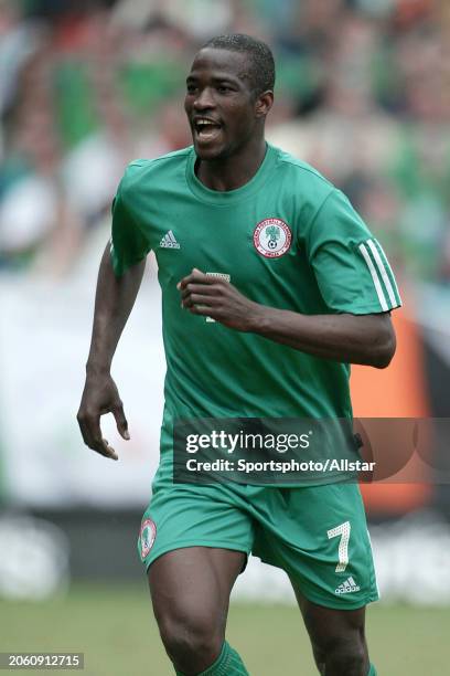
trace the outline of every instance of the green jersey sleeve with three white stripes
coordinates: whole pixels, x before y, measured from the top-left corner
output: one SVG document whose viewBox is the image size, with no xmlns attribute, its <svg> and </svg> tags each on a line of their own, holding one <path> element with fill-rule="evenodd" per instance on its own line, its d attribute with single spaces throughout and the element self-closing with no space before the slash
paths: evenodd
<svg viewBox="0 0 450 676">
<path fill-rule="evenodd" d="M 340 190 L 332 190 L 310 225 L 309 260 L 332 310 L 364 315 L 401 305 L 382 245 Z"/>
</svg>

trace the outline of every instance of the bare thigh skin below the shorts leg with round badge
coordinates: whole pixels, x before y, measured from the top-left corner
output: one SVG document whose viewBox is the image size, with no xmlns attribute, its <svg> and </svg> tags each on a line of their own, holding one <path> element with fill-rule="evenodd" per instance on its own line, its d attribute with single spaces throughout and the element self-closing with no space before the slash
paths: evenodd
<svg viewBox="0 0 450 676">
<path fill-rule="evenodd" d="M 229 594 L 246 553 L 210 547 L 175 549 L 148 570 L 156 619 L 162 633 L 181 631 L 223 640 Z"/>
</svg>

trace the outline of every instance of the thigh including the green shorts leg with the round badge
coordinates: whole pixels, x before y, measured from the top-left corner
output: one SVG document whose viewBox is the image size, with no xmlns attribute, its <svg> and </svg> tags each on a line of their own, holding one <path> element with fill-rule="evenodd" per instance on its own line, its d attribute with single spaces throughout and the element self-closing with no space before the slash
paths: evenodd
<svg viewBox="0 0 450 676">
<path fill-rule="evenodd" d="M 251 548 L 251 519 L 238 492 L 176 485 L 160 469 L 138 540 L 156 617 L 168 637 L 183 627 L 217 635 Z"/>
</svg>

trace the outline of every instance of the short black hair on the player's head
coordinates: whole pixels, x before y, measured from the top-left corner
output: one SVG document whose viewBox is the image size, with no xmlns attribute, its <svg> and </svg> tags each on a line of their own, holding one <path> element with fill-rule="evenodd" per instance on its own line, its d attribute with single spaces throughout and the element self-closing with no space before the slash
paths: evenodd
<svg viewBox="0 0 450 676">
<path fill-rule="evenodd" d="M 274 54 L 270 47 L 261 40 L 245 33 L 229 33 L 228 35 L 212 38 L 202 46 L 202 50 L 205 47 L 247 54 L 249 56 L 248 72 L 244 76 L 249 80 L 254 95 L 259 96 L 259 94 L 268 89 L 274 91 Z"/>
</svg>

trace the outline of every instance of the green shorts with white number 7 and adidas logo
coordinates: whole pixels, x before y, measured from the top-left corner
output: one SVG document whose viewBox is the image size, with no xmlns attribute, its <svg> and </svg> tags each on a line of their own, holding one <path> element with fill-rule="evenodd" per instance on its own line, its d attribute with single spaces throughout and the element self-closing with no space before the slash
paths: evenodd
<svg viewBox="0 0 450 676">
<path fill-rule="evenodd" d="M 162 463 L 142 518 L 139 556 L 148 568 L 168 551 L 195 546 L 251 552 L 326 608 L 353 610 L 378 599 L 357 484 L 173 484 Z"/>
</svg>

